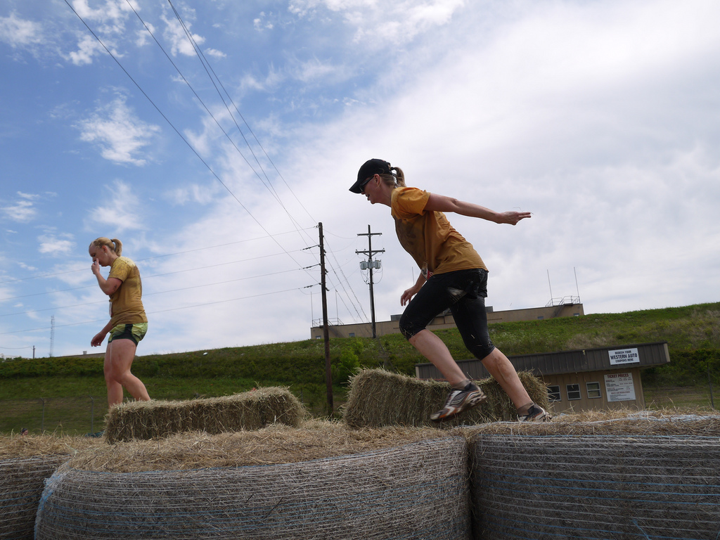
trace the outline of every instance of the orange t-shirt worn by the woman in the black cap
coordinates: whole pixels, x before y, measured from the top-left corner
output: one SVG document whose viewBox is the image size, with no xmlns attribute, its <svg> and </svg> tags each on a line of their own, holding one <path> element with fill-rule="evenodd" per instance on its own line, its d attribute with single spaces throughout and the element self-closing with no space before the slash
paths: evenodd
<svg viewBox="0 0 720 540">
<path fill-rule="evenodd" d="M 482 258 L 443 212 L 425 210 L 430 194 L 415 187 L 392 190 L 390 208 L 397 239 L 428 277 L 456 270 L 487 270 Z"/>
</svg>

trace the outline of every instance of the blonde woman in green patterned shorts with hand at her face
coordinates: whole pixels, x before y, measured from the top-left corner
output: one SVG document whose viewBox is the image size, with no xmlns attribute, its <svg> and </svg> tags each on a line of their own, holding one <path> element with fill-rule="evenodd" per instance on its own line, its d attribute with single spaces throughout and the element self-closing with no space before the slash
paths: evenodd
<svg viewBox="0 0 720 540">
<path fill-rule="evenodd" d="M 122 242 L 117 238 L 96 238 L 90 244 L 89 253 L 97 284 L 110 297 L 110 320 L 90 342 L 91 346 L 98 347 L 109 334 L 104 362 L 107 404 L 112 407 L 122 403 L 123 388 L 136 400 L 150 401 L 145 384 L 130 372 L 138 343 L 148 331 L 138 266 L 122 256 Z M 107 279 L 100 274 L 100 266 L 110 267 Z"/>
</svg>

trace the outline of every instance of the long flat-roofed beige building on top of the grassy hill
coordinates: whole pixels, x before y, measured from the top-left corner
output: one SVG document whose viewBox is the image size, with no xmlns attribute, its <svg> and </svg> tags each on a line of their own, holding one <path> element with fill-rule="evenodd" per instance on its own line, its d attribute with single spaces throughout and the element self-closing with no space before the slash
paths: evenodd
<svg viewBox="0 0 720 540">
<path fill-rule="evenodd" d="M 487 307 L 487 323 L 515 323 L 518 320 L 544 320 L 557 317 L 580 317 L 585 315 L 582 304 L 567 303 L 548 307 L 528 307 L 524 310 L 493 311 Z M 314 321 L 315 322 L 315 321 Z M 310 339 L 323 339 L 322 321 L 310 328 Z M 375 322 L 376 336 L 400 333 L 400 315 L 392 315 L 390 320 Z M 428 325 L 428 330 L 445 330 L 455 328 L 455 320 L 448 310 L 438 315 Z M 328 325 L 330 338 L 372 338 L 372 323 L 359 323 L 351 325 Z"/>
</svg>

